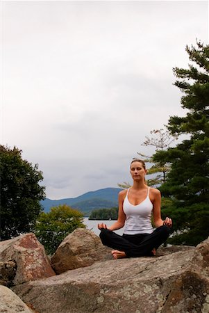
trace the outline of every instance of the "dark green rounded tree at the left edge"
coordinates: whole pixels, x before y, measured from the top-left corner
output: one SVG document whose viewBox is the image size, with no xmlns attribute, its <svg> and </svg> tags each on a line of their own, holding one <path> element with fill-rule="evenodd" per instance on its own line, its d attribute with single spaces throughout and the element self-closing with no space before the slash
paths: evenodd
<svg viewBox="0 0 209 313">
<path fill-rule="evenodd" d="M 0 236 L 11 239 L 33 229 L 44 199 L 42 172 L 22 159 L 22 150 L 0 145 Z"/>
</svg>

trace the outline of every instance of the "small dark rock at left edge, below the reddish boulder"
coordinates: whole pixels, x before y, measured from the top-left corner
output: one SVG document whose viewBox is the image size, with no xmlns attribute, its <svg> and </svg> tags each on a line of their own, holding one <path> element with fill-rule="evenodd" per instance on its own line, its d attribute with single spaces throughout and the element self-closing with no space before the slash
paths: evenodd
<svg viewBox="0 0 209 313">
<path fill-rule="evenodd" d="M 0 284 L 10 287 L 15 278 L 17 264 L 15 261 L 0 262 Z"/>
</svg>

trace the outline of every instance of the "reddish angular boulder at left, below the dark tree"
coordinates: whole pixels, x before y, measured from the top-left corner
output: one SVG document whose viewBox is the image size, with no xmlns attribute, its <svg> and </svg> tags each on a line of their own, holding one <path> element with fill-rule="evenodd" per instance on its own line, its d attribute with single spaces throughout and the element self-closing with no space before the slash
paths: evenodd
<svg viewBox="0 0 209 313">
<path fill-rule="evenodd" d="M 44 247 L 33 233 L 1 241 L 0 259 L 1 262 L 15 260 L 17 271 L 12 281 L 13 284 L 22 284 L 30 280 L 56 275 L 49 264 Z"/>
</svg>

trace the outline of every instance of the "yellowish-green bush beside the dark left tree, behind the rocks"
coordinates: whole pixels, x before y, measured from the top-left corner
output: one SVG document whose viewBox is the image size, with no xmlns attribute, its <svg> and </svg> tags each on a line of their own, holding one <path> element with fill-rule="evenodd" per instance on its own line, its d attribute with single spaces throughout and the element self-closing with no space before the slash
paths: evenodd
<svg viewBox="0 0 209 313">
<path fill-rule="evenodd" d="M 51 207 L 49 213 L 42 212 L 37 218 L 34 233 L 49 255 L 76 228 L 85 228 L 82 223 L 83 214 L 66 204 Z"/>
</svg>

